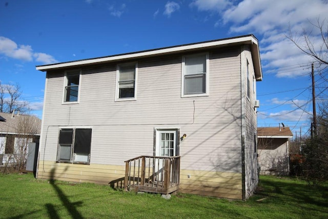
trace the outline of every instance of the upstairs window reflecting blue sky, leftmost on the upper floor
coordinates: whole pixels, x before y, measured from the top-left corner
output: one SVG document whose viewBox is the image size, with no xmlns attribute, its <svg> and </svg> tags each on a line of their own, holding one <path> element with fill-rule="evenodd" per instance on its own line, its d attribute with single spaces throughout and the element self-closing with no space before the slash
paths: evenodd
<svg viewBox="0 0 328 219">
<path fill-rule="evenodd" d="M 65 73 L 64 102 L 78 102 L 80 70 Z"/>
</svg>

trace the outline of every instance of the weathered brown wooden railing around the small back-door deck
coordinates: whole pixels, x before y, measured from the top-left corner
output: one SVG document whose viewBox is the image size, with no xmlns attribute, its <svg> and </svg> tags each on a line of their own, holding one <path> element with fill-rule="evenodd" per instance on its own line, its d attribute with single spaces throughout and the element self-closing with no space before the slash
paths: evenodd
<svg viewBox="0 0 328 219">
<path fill-rule="evenodd" d="M 179 188 L 180 156 L 138 156 L 125 165 L 126 191 L 169 194 Z"/>
</svg>

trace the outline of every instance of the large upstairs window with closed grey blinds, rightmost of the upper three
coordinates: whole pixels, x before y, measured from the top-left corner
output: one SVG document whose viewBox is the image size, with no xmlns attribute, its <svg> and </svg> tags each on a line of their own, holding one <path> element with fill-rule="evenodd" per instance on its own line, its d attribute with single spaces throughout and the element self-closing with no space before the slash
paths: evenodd
<svg viewBox="0 0 328 219">
<path fill-rule="evenodd" d="M 208 95 L 209 54 L 182 57 L 182 96 Z"/>
</svg>

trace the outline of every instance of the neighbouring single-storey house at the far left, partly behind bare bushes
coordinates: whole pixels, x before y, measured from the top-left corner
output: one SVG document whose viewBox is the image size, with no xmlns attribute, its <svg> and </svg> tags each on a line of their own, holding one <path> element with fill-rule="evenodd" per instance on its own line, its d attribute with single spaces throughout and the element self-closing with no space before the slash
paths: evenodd
<svg viewBox="0 0 328 219">
<path fill-rule="evenodd" d="M 0 112 L 0 165 L 26 160 L 28 144 L 38 143 L 41 120 L 35 116 Z"/>
</svg>

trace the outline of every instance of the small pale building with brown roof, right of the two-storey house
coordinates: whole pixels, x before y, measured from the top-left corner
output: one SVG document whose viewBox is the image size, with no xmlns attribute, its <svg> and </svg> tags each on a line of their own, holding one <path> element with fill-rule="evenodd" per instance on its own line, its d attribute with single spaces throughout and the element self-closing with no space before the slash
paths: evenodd
<svg viewBox="0 0 328 219">
<path fill-rule="evenodd" d="M 258 163 L 260 174 L 288 175 L 289 139 L 293 133 L 289 127 L 257 128 Z"/>
</svg>

